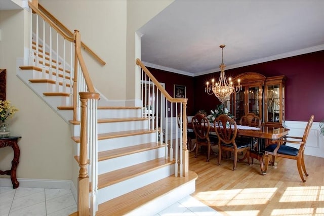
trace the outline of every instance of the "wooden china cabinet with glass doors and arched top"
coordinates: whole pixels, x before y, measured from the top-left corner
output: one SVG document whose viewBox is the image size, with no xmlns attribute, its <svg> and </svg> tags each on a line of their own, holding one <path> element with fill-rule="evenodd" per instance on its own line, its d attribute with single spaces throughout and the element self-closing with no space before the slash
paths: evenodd
<svg viewBox="0 0 324 216">
<path fill-rule="evenodd" d="M 238 79 L 242 88 L 232 94 L 230 100 L 230 109 L 236 122 L 252 112 L 262 119 L 262 125 L 284 127 L 286 76 L 265 77 L 260 73 L 246 72 L 233 80 Z"/>
</svg>

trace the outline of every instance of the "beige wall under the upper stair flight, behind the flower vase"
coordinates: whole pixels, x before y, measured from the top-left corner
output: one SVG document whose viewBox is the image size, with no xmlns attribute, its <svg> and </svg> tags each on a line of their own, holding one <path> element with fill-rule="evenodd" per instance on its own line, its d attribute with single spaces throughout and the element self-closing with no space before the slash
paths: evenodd
<svg viewBox="0 0 324 216">
<path fill-rule="evenodd" d="M 11 135 L 22 137 L 17 178 L 71 180 L 72 166 L 67 164 L 75 163 L 75 144 L 69 125 L 16 76 L 16 58 L 23 57 L 26 40 L 23 32 L 28 32 L 24 17 L 29 17 L 25 10 L 0 13 L 0 68 L 7 69 L 7 100 L 19 109 L 10 121 Z M 0 156 L 0 169 L 9 169 L 12 149 L 0 149 Z"/>
</svg>

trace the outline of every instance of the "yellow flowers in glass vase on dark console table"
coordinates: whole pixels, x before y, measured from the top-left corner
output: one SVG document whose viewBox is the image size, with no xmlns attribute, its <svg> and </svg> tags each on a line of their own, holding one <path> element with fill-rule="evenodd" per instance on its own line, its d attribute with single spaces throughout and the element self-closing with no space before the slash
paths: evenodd
<svg viewBox="0 0 324 216">
<path fill-rule="evenodd" d="M 6 124 L 6 120 L 18 111 L 16 107 L 10 105 L 10 101 L 2 101 L 0 100 L 0 137 L 8 137 L 9 129 L 8 124 Z"/>
</svg>

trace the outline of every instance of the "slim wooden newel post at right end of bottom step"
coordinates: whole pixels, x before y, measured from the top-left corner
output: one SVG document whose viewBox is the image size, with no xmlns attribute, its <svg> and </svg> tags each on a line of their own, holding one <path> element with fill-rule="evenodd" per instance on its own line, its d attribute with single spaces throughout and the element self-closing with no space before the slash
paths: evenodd
<svg viewBox="0 0 324 216">
<path fill-rule="evenodd" d="M 187 148 L 187 103 L 183 103 L 183 115 L 182 115 L 182 159 L 183 159 L 183 176 L 189 174 L 189 151 Z"/>
</svg>

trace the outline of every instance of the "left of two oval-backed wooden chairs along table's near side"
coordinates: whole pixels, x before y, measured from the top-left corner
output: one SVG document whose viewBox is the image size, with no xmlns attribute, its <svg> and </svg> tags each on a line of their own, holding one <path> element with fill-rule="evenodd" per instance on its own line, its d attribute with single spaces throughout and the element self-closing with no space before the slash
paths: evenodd
<svg viewBox="0 0 324 216">
<path fill-rule="evenodd" d="M 194 157 L 198 155 L 199 146 L 207 147 L 207 162 L 209 161 L 209 157 L 211 154 L 211 145 L 215 143 L 213 140 L 211 141 L 209 132 L 210 132 L 210 123 L 209 119 L 201 114 L 196 114 L 191 119 L 193 131 L 196 136 L 196 153 Z"/>
</svg>

